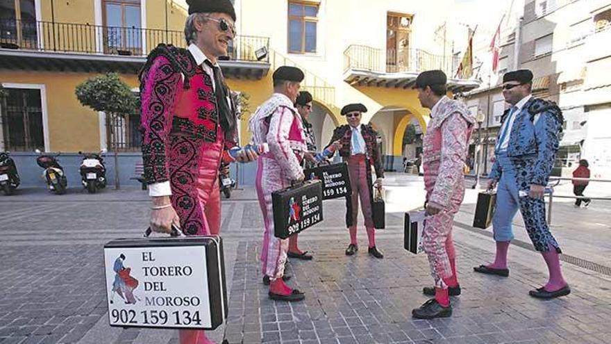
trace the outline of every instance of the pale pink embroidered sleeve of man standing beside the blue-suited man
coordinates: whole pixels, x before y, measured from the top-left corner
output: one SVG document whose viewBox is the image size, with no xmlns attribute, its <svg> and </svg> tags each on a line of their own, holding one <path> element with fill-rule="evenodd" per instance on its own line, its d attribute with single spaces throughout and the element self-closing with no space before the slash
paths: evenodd
<svg viewBox="0 0 611 344">
<path fill-rule="evenodd" d="M 442 124 L 442 156 L 439 173 L 429 202 L 449 206 L 456 183 L 462 183 L 462 165 L 467 158 L 467 121 L 455 113 Z"/>
</svg>

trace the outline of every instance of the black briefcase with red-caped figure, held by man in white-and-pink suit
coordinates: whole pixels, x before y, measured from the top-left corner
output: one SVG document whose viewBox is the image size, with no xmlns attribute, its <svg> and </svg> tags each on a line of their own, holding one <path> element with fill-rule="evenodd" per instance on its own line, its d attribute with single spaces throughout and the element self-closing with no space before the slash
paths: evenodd
<svg viewBox="0 0 611 344">
<path fill-rule="evenodd" d="M 274 236 L 285 239 L 322 221 L 322 183 L 305 181 L 271 193 Z"/>
</svg>

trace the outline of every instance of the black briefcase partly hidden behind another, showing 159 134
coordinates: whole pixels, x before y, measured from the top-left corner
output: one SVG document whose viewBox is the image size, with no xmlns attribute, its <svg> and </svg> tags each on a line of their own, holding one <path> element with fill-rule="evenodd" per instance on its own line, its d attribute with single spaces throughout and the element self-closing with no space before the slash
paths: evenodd
<svg viewBox="0 0 611 344">
<path fill-rule="evenodd" d="M 306 180 L 318 179 L 322 182 L 322 199 L 346 197 L 352 193 L 347 163 L 308 168 L 303 174 Z"/>
</svg>

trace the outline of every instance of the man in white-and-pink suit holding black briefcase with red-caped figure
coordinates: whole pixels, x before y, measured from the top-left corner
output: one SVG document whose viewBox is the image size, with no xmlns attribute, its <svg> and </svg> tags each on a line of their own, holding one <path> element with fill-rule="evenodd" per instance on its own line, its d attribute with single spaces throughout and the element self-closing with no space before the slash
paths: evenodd
<svg viewBox="0 0 611 344">
<path fill-rule="evenodd" d="M 274 95 L 256 110 L 249 122 L 253 143 L 269 145 L 269 152 L 258 159 L 256 178 L 259 206 L 265 222 L 261 250 L 263 283 L 269 281 L 269 297 L 273 300 L 300 301 L 305 295 L 285 284 L 289 240 L 274 236 L 271 193 L 304 177 L 300 161 L 307 147 L 301 119 L 293 105 L 299 94 L 303 72 L 283 66 L 276 69 L 272 78 Z"/>
</svg>

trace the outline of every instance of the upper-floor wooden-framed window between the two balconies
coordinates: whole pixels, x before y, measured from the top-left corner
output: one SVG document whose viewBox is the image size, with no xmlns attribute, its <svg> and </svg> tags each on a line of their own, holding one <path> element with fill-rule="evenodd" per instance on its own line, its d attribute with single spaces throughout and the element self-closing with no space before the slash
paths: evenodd
<svg viewBox="0 0 611 344">
<path fill-rule="evenodd" d="M 288 23 L 288 51 L 292 54 L 315 53 L 318 3 L 289 1 Z"/>
</svg>

